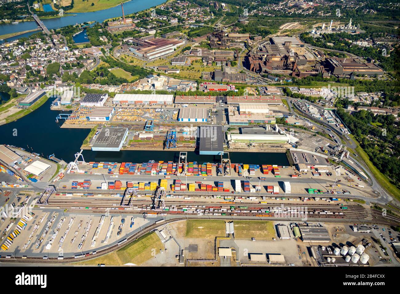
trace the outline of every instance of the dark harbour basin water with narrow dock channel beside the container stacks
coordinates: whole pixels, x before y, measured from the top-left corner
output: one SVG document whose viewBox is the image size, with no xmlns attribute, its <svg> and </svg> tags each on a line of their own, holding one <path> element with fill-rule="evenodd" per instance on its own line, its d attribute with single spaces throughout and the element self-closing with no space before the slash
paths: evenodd
<svg viewBox="0 0 400 294">
<path fill-rule="evenodd" d="M 25 148 L 31 152 L 43 154 L 44 157 L 55 154 L 57 158 L 69 162 L 79 152 L 89 129 L 60 128 L 63 121 L 56 122 L 60 111 L 50 110 L 52 98 L 40 108 L 15 122 L 0 126 L 0 144 L 9 144 Z M 16 131 L 16 136 L 14 136 Z M 84 150 L 86 162 L 146 162 L 148 160 L 178 160 L 179 152 L 174 151 L 91 151 Z M 232 163 L 245 164 L 278 164 L 288 166 L 285 153 L 272 152 L 230 152 Z M 188 161 L 220 162 L 220 156 L 199 155 L 188 152 Z"/>
</svg>

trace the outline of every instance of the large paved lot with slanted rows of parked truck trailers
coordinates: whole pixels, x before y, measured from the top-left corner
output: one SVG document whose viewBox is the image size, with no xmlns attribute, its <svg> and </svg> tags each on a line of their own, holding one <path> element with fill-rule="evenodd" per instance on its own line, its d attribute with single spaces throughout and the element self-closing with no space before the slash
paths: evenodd
<svg viewBox="0 0 400 294">
<path fill-rule="evenodd" d="M 2 252 L 2 255 L 71 257 L 86 254 L 112 246 L 140 231 L 150 222 L 144 220 L 142 215 L 112 214 L 105 216 L 103 224 L 100 225 L 101 214 L 70 213 L 62 210 L 54 212 L 50 209 L 37 212 L 34 210 L 34 213 L 33 218 L 27 222 L 26 228 L 14 238 L 12 246 L 6 252 Z M 110 226 L 111 217 L 113 218 L 112 226 Z M 134 224 L 130 228 L 132 217 Z M 123 227 L 122 218 L 125 220 Z M 62 222 L 62 220 L 64 221 Z M 14 229 L 16 222 L 10 231 Z M 120 226 L 122 228 L 118 234 Z M 100 229 L 98 230 L 98 228 Z M 108 234 L 109 228 L 110 233 Z M 67 230 L 68 232 L 65 234 Z M 29 244 L 28 240 L 30 240 Z M 40 242 L 40 240 L 42 241 Z M 96 242 L 93 243 L 93 240 Z M 51 246 L 48 245 L 50 241 L 52 241 Z"/>
</svg>

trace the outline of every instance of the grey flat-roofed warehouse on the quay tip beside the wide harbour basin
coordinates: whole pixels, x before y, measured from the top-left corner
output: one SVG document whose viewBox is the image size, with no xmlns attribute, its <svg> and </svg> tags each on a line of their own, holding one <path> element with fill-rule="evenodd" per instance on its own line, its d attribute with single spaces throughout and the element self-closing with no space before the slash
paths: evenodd
<svg viewBox="0 0 400 294">
<path fill-rule="evenodd" d="M 128 128 L 102 128 L 93 143 L 92 151 L 120 151 L 128 137 Z"/>
</svg>

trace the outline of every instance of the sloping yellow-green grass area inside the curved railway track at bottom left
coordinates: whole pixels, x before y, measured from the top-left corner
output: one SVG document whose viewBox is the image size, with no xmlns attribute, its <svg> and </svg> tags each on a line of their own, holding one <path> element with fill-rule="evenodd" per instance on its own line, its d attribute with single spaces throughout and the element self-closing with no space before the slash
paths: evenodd
<svg viewBox="0 0 400 294">
<path fill-rule="evenodd" d="M 127 263 L 142 264 L 164 250 L 164 245 L 157 234 L 148 233 L 131 244 L 121 248 L 120 250 L 111 252 L 104 256 L 79 262 L 84 265 L 105 264 L 106 266 L 122 266 Z"/>
</svg>

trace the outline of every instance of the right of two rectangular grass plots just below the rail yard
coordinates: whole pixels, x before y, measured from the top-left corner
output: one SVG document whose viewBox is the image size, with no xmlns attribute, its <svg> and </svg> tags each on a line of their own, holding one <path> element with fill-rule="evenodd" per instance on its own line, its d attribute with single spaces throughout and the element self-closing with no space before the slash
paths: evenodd
<svg viewBox="0 0 400 294">
<path fill-rule="evenodd" d="M 272 239 L 275 237 L 274 224 L 268 221 L 260 220 L 235 220 L 234 234 L 235 238 L 250 239 Z"/>
</svg>

